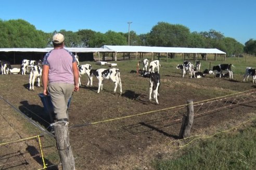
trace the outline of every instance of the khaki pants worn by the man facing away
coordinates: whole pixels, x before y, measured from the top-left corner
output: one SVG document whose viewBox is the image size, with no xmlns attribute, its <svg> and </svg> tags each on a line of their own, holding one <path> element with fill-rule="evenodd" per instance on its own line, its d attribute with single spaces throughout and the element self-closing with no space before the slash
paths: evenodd
<svg viewBox="0 0 256 170">
<path fill-rule="evenodd" d="M 49 83 L 48 92 L 54 106 L 57 120 L 68 119 L 68 102 L 74 91 L 74 84 Z"/>
</svg>

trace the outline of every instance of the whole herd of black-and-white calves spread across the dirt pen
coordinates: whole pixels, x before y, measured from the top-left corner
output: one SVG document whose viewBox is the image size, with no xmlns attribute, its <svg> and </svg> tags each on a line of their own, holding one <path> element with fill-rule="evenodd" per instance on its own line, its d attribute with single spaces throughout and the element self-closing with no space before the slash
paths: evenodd
<svg viewBox="0 0 256 170">
<path fill-rule="evenodd" d="M 122 82 L 120 78 L 120 70 L 118 68 L 99 68 L 92 69 L 91 64 L 83 64 L 79 65 L 78 56 L 76 56 L 76 61 L 78 62 L 79 74 L 80 77 L 82 75 L 87 75 L 87 86 L 93 85 L 93 75 L 98 79 L 98 91 L 103 90 L 103 80 L 110 79 L 114 82 L 114 93 L 117 91 L 117 87 L 120 88 L 120 94 L 122 93 Z M 153 92 L 153 99 L 156 100 L 156 104 L 158 103 L 157 96 L 159 95 L 158 89 L 160 86 L 160 63 L 158 60 L 152 61 L 149 63 L 148 59 L 141 61 L 143 63 L 143 69 L 137 70 L 140 75 L 143 77 L 149 78 L 150 86 L 149 86 L 149 100 L 151 101 L 151 94 Z M 139 62 L 140 63 L 140 62 Z M 8 61 L 0 61 L 1 66 L 1 74 L 9 74 L 9 72 L 17 68 L 11 68 L 11 65 Z M 231 70 L 232 64 L 219 64 L 213 66 L 212 70 L 204 69 L 203 72 L 200 72 L 200 61 L 196 61 L 195 67 L 194 64 L 191 64 L 189 61 L 184 61 L 183 64 L 178 64 L 176 66 L 177 69 L 180 69 L 182 72 L 182 77 L 185 74 L 189 74 L 190 78 L 200 78 L 205 77 L 206 74 L 214 74 L 214 70 L 216 70 L 216 77 L 228 77 L 229 79 L 233 79 L 233 72 Z M 23 60 L 21 67 L 18 69 L 19 74 L 25 75 L 29 73 L 29 90 L 34 91 L 34 82 L 37 78 L 37 87 L 40 87 L 40 79 L 42 76 L 42 61 L 34 61 L 34 60 Z M 226 74 L 222 74 L 223 71 L 226 71 Z M 246 71 L 244 74 L 244 81 L 249 76 L 252 76 L 252 83 L 256 81 L 255 68 L 246 67 Z M 79 77 L 79 85 L 81 86 L 81 81 Z"/>
</svg>

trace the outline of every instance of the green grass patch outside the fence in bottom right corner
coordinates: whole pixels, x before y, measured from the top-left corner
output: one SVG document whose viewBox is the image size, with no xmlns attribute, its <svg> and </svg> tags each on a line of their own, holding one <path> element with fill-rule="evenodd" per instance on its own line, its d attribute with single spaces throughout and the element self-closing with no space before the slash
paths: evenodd
<svg viewBox="0 0 256 170">
<path fill-rule="evenodd" d="M 231 134 L 218 134 L 182 150 L 177 159 L 155 160 L 153 167 L 168 169 L 256 169 L 256 122 Z"/>
</svg>

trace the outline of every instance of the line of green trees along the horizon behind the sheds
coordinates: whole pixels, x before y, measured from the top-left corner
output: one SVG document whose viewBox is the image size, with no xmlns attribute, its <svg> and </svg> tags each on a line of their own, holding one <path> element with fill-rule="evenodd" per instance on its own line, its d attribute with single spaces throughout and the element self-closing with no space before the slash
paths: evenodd
<svg viewBox="0 0 256 170">
<path fill-rule="evenodd" d="M 46 48 L 53 47 L 52 36 L 57 31 L 45 33 L 22 19 L 3 21 L 0 19 L 0 48 Z M 128 45 L 129 33 L 107 31 L 95 32 L 81 29 L 77 32 L 60 30 L 65 35 L 66 47 L 99 48 L 104 45 Z M 249 39 L 245 45 L 236 39 L 225 37 L 215 30 L 190 32 L 180 24 L 158 22 L 147 34 L 130 32 L 130 46 L 217 48 L 227 56 L 241 53 L 256 56 L 256 40 Z"/>
</svg>

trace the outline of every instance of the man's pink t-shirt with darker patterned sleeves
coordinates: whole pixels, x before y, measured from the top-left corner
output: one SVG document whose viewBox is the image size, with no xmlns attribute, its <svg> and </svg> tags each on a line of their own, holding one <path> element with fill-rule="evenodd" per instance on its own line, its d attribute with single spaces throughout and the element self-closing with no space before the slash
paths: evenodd
<svg viewBox="0 0 256 170">
<path fill-rule="evenodd" d="M 49 66 L 48 80 L 74 84 L 72 64 L 76 62 L 72 52 L 61 48 L 53 49 L 45 54 L 43 65 Z"/>
</svg>

